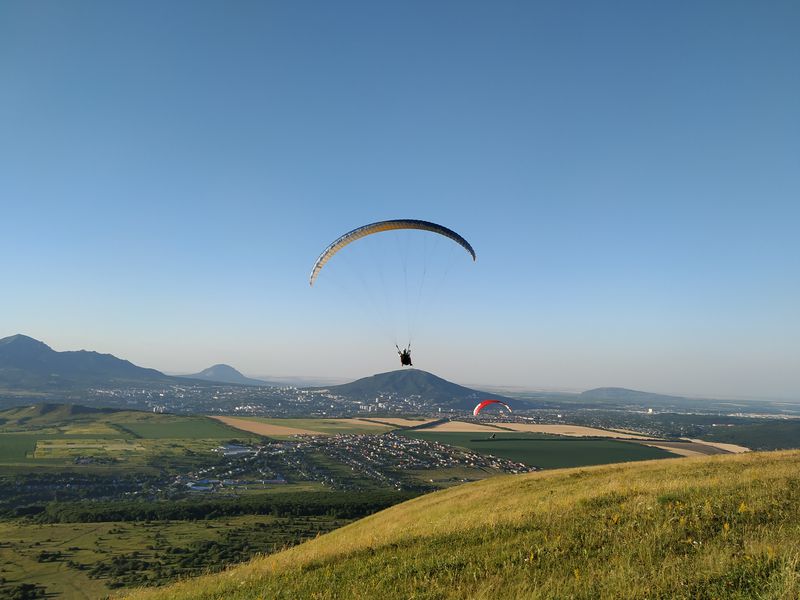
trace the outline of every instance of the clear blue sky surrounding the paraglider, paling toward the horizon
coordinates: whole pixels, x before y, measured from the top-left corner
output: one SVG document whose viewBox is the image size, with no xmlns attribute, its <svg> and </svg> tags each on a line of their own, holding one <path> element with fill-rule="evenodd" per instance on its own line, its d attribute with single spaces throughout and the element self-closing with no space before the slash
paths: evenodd
<svg viewBox="0 0 800 600">
<path fill-rule="evenodd" d="M 478 261 L 420 368 L 798 398 L 798 32 L 794 0 L 5 0 L 0 336 L 391 370 L 307 275 L 421 218 Z"/>
</svg>

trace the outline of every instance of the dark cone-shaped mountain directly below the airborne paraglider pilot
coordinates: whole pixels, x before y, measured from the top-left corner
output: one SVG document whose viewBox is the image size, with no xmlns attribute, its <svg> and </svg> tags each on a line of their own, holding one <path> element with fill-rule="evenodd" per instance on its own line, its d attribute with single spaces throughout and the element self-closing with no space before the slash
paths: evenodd
<svg viewBox="0 0 800 600">
<path fill-rule="evenodd" d="M 379 396 L 391 395 L 404 398 L 419 396 L 434 406 L 459 409 L 471 409 L 475 404 L 486 398 L 503 400 L 511 403 L 512 406 L 521 402 L 451 383 L 419 369 L 403 369 L 379 373 L 351 383 L 329 386 L 326 389 L 339 396 L 354 400 L 374 400 Z M 533 405 L 529 403 L 528 407 L 531 406 Z"/>
</svg>

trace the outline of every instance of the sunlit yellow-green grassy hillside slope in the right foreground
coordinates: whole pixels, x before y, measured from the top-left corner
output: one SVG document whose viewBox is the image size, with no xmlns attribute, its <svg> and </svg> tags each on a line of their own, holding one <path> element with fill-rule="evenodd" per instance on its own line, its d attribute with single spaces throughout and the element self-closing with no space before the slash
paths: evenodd
<svg viewBox="0 0 800 600">
<path fill-rule="evenodd" d="M 503 476 L 135 598 L 797 598 L 800 451 Z"/>
</svg>

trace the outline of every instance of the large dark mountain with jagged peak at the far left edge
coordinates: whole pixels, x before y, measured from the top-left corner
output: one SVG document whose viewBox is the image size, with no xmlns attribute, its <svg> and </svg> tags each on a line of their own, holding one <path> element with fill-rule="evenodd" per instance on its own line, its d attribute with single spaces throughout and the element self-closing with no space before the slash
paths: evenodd
<svg viewBox="0 0 800 600">
<path fill-rule="evenodd" d="M 58 390 L 170 380 L 160 371 L 137 367 L 111 354 L 56 352 L 44 342 L 21 334 L 0 339 L 0 387 L 5 389 Z"/>
</svg>

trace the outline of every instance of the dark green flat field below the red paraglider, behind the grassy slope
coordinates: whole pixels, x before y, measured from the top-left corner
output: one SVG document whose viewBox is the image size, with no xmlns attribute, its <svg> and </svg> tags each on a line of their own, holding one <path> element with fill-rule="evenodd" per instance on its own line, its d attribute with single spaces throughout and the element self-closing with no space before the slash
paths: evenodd
<svg viewBox="0 0 800 600">
<path fill-rule="evenodd" d="M 675 458 L 665 450 L 616 440 L 569 438 L 538 433 L 496 433 L 489 439 L 484 433 L 454 433 L 425 430 L 403 431 L 402 435 L 437 441 L 478 452 L 491 454 L 532 467 L 561 469 L 602 465 L 654 458 Z"/>
</svg>

